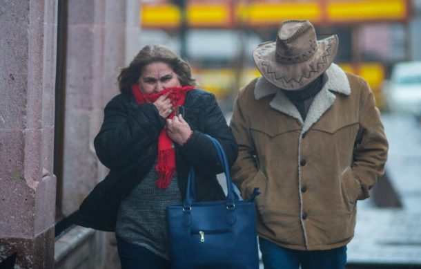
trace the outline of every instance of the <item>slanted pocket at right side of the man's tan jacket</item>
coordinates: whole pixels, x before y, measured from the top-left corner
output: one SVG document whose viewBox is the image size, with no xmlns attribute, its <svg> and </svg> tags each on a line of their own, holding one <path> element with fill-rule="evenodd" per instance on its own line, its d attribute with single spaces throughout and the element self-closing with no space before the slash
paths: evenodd
<svg viewBox="0 0 421 269">
<path fill-rule="evenodd" d="M 355 178 L 351 167 L 346 167 L 346 169 L 342 171 L 340 186 L 345 208 L 349 212 L 352 212 L 357 204 L 357 198 L 361 192 L 361 185 L 357 178 Z"/>
</svg>

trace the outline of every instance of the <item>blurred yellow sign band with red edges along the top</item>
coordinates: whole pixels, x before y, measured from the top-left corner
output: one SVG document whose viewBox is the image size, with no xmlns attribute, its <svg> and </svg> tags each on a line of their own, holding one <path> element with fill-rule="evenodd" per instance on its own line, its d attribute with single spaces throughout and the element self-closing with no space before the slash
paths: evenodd
<svg viewBox="0 0 421 269">
<path fill-rule="evenodd" d="M 186 8 L 190 28 L 277 26 L 284 19 L 309 19 L 313 24 L 362 21 L 404 21 L 409 0 L 307 0 L 307 1 L 192 1 Z M 143 3 L 143 28 L 174 29 L 181 13 L 170 1 Z"/>
</svg>

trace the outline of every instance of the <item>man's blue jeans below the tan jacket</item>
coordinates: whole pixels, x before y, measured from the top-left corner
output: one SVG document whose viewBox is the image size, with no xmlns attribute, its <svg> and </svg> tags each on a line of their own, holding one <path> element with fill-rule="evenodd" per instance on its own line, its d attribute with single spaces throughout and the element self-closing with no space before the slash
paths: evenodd
<svg viewBox="0 0 421 269">
<path fill-rule="evenodd" d="M 343 269 L 346 245 L 332 250 L 289 250 L 259 237 L 264 269 Z"/>
</svg>

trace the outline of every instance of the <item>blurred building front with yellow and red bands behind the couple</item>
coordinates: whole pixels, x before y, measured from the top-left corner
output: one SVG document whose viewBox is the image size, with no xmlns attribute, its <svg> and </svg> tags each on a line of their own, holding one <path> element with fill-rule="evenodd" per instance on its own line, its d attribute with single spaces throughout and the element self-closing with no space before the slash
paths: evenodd
<svg viewBox="0 0 421 269">
<path fill-rule="evenodd" d="M 416 0 L 144 1 L 139 39 L 142 45 L 166 44 L 179 52 L 193 66 L 204 89 L 215 93 L 221 102 L 232 104 L 239 87 L 259 75 L 251 57 L 253 48 L 274 41 L 280 21 L 309 19 L 318 39 L 339 36 L 335 62 L 345 71 L 364 77 L 378 107 L 386 110 L 389 85 L 385 84 L 393 66 L 421 60 L 420 5 Z M 419 72 L 418 79 L 407 72 L 419 70 L 417 67 L 397 75 L 415 75 L 419 84 Z M 402 77 L 394 79 L 402 85 Z"/>
</svg>

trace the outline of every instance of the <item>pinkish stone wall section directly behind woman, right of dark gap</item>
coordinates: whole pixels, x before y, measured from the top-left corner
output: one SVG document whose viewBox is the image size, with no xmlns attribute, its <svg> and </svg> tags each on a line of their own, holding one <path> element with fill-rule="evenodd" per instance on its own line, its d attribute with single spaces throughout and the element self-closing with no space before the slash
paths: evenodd
<svg viewBox="0 0 421 269">
<path fill-rule="evenodd" d="M 68 4 L 63 216 L 75 212 L 108 173 L 97 159 L 93 139 L 101 127 L 104 106 L 119 92 L 117 75 L 128 64 L 126 47 L 139 43 L 139 8 L 140 2 L 134 0 L 77 0 Z M 83 231 L 72 229 L 71 232 Z M 95 268 L 119 267 L 113 233 L 95 232 L 95 236 L 72 246 L 71 252 L 56 261 L 57 268 L 74 268 L 72 264 L 77 261 L 84 261 L 86 268 L 92 264 Z"/>
</svg>

